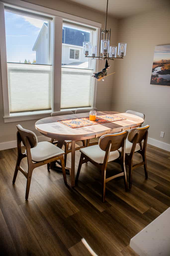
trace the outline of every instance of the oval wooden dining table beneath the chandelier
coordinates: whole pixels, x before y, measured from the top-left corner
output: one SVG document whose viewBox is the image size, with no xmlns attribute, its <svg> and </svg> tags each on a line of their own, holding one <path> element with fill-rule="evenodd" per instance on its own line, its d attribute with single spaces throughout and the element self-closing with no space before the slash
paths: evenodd
<svg viewBox="0 0 170 256">
<path fill-rule="evenodd" d="M 139 116 L 128 114 L 128 113 L 119 113 L 114 111 L 98 111 L 97 115 L 104 114 L 115 114 L 125 120 L 115 121 L 104 124 L 95 124 L 80 128 L 70 128 L 62 123 L 59 123 L 58 120 L 81 118 L 89 116 L 89 113 L 81 114 L 72 114 L 72 115 L 60 115 L 60 116 L 51 116 L 38 120 L 35 123 L 35 128 L 44 136 L 49 138 L 55 138 L 58 140 L 57 146 L 62 147 L 64 140 L 71 140 L 71 186 L 75 186 L 75 141 L 86 140 L 90 138 L 99 137 L 103 134 L 121 132 L 127 129 L 138 127 L 143 123 L 143 119 Z"/>
</svg>

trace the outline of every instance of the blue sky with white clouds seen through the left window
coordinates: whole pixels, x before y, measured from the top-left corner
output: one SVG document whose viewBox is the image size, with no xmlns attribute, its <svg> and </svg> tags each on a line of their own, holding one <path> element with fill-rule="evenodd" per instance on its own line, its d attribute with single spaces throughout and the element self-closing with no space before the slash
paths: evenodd
<svg viewBox="0 0 170 256">
<path fill-rule="evenodd" d="M 44 22 L 48 23 L 46 20 L 5 11 L 7 62 L 23 63 L 29 59 L 32 63 L 36 59 L 36 52 L 32 48 Z"/>
</svg>

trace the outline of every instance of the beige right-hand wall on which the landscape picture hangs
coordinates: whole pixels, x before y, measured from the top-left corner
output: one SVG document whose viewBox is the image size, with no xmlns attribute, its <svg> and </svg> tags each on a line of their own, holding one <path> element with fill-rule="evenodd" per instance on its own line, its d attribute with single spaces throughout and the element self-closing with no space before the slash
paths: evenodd
<svg viewBox="0 0 170 256">
<path fill-rule="evenodd" d="M 170 144 L 170 87 L 150 84 L 154 48 L 170 44 L 170 8 L 122 19 L 118 31 L 127 55 L 116 60 L 112 110 L 144 113 L 149 137 Z"/>
</svg>

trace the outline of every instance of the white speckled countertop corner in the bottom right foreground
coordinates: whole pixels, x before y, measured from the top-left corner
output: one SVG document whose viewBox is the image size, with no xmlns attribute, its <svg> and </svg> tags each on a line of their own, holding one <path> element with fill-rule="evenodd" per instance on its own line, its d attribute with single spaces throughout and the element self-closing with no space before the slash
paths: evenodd
<svg viewBox="0 0 170 256">
<path fill-rule="evenodd" d="M 170 255 L 170 207 L 130 240 L 140 256 Z"/>
</svg>

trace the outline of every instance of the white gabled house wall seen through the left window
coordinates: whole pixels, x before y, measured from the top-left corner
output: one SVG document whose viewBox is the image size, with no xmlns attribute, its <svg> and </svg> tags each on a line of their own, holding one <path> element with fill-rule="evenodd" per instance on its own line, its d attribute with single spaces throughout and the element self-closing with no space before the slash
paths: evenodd
<svg viewBox="0 0 170 256">
<path fill-rule="evenodd" d="M 36 51 L 36 64 L 48 64 L 47 62 L 47 49 L 48 49 L 48 23 L 44 23 L 41 31 L 35 41 L 35 44 L 32 48 L 33 51 Z"/>
</svg>

